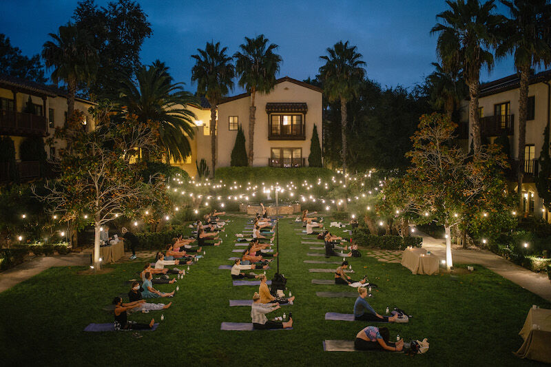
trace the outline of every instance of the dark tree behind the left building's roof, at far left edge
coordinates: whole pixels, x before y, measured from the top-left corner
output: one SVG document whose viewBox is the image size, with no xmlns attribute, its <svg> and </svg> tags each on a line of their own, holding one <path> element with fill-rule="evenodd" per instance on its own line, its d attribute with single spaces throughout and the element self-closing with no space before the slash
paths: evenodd
<svg viewBox="0 0 551 367">
<path fill-rule="evenodd" d="M 44 67 L 40 55 L 31 57 L 21 54 L 21 50 L 12 46 L 6 34 L 0 33 L 0 73 L 23 78 L 37 83 L 46 83 Z"/>
</svg>

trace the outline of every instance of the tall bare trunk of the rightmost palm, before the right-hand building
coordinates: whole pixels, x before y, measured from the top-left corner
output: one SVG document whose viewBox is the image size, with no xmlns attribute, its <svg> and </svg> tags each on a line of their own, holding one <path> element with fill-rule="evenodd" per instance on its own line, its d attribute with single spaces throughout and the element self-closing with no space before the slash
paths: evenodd
<svg viewBox="0 0 551 367">
<path fill-rule="evenodd" d="M 517 167 L 517 200 L 519 203 L 519 212 L 522 211 L 522 178 L 524 174 L 524 147 L 526 145 L 526 118 L 528 116 L 528 77 L 530 76 L 530 66 L 520 67 L 520 87 L 519 87 L 519 165 Z"/>
</svg>

